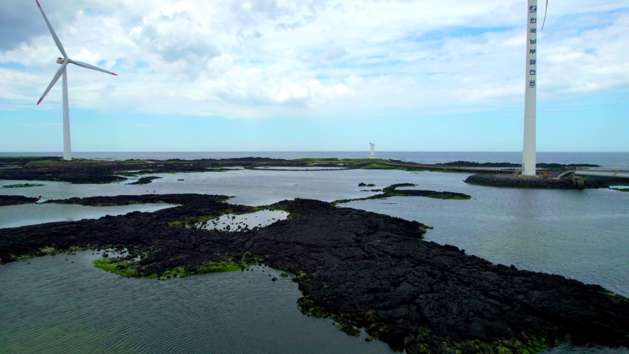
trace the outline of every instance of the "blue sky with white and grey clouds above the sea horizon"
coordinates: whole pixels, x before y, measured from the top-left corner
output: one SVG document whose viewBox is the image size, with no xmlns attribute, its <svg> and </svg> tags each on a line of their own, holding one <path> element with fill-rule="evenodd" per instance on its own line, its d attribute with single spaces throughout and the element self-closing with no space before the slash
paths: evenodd
<svg viewBox="0 0 629 354">
<path fill-rule="evenodd" d="M 629 1 L 548 3 L 537 151 L 629 151 Z M 73 151 L 522 149 L 525 0 L 40 4 L 118 74 L 68 67 Z M 62 151 L 59 56 L 35 0 L 0 1 L 0 152 Z"/>
</svg>

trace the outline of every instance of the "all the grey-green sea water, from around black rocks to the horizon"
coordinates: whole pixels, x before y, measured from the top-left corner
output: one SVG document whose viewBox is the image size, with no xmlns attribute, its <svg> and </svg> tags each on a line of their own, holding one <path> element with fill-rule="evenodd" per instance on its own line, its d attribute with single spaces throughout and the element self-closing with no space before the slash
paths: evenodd
<svg viewBox="0 0 629 354">
<path fill-rule="evenodd" d="M 199 159 L 229 157 L 364 157 L 368 152 L 77 152 L 99 159 Z M 518 152 L 376 152 L 384 159 L 518 163 Z M 0 156 L 44 153 L 0 153 Z M 48 156 L 60 154 L 48 153 Z M 540 152 L 538 162 L 589 163 L 628 169 L 629 153 Z M 250 170 L 152 174 L 148 185 L 130 181 L 0 188 L 0 194 L 42 200 L 97 195 L 208 193 L 230 203 L 267 205 L 284 199 L 333 201 L 374 194 L 377 187 L 415 183 L 454 191 L 470 200 L 391 197 L 342 204 L 417 220 L 434 229 L 426 239 L 452 244 L 494 263 L 596 283 L 629 296 L 629 193 L 598 190 L 522 190 L 468 185 L 469 174 L 373 169 Z M 133 180 L 131 180 L 133 181 Z M 28 181 L 0 180 L 0 186 Z M 0 207 L 4 227 L 94 219 L 173 205 L 118 207 L 27 204 Z M 392 353 L 338 331 L 331 319 L 304 316 L 298 285 L 279 270 L 211 273 L 165 281 L 121 278 L 92 266 L 100 254 L 58 254 L 0 266 L 0 353 Z M 269 275 L 279 278 L 270 281 Z M 562 341 L 543 353 L 623 353 L 627 348 L 574 346 Z"/>
</svg>

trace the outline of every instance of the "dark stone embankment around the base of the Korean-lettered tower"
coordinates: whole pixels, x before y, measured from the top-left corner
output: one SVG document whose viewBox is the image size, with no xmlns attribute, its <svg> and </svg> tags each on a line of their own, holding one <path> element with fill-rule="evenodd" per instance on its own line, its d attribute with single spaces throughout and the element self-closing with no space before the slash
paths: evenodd
<svg viewBox="0 0 629 354">
<path fill-rule="evenodd" d="M 466 183 L 474 185 L 493 186 L 493 187 L 509 187 L 509 188 L 543 188 L 543 189 L 579 189 L 572 183 L 571 179 L 553 180 L 550 178 L 526 178 L 515 175 L 504 174 L 473 174 L 469 176 Z M 584 181 L 583 188 L 607 188 L 608 185 L 604 181 L 596 178 L 588 178 Z"/>
</svg>

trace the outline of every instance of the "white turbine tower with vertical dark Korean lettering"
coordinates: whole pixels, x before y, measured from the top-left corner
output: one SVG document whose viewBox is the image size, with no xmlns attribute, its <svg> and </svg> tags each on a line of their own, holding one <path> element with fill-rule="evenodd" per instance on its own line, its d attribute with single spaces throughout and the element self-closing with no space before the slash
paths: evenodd
<svg viewBox="0 0 629 354">
<path fill-rule="evenodd" d="M 535 110 L 537 90 L 537 0 L 526 8 L 526 79 L 522 176 L 535 176 Z"/>
</svg>

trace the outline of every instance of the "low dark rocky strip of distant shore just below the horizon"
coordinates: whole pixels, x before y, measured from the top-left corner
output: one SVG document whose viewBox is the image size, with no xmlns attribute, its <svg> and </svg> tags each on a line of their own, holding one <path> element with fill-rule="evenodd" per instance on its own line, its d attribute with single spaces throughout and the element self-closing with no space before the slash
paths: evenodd
<svg viewBox="0 0 629 354">
<path fill-rule="evenodd" d="M 515 173 L 520 167 L 513 163 L 473 163 L 456 161 L 445 164 L 419 164 L 393 159 L 338 159 L 338 157 L 304 157 L 277 159 L 272 157 L 234 157 L 228 159 L 128 159 L 103 161 L 60 157 L 0 157 L 0 180 L 65 181 L 70 183 L 111 183 L 128 177 L 143 175 L 144 182 L 154 179 L 148 174 L 225 172 L 226 168 L 262 169 L 287 168 L 343 168 L 343 169 L 400 169 L 403 171 L 435 171 L 448 173 Z M 593 166 L 587 164 L 587 166 Z M 594 165 L 596 166 L 596 165 Z M 547 166 L 552 170 L 565 169 L 562 164 Z"/>
</svg>

